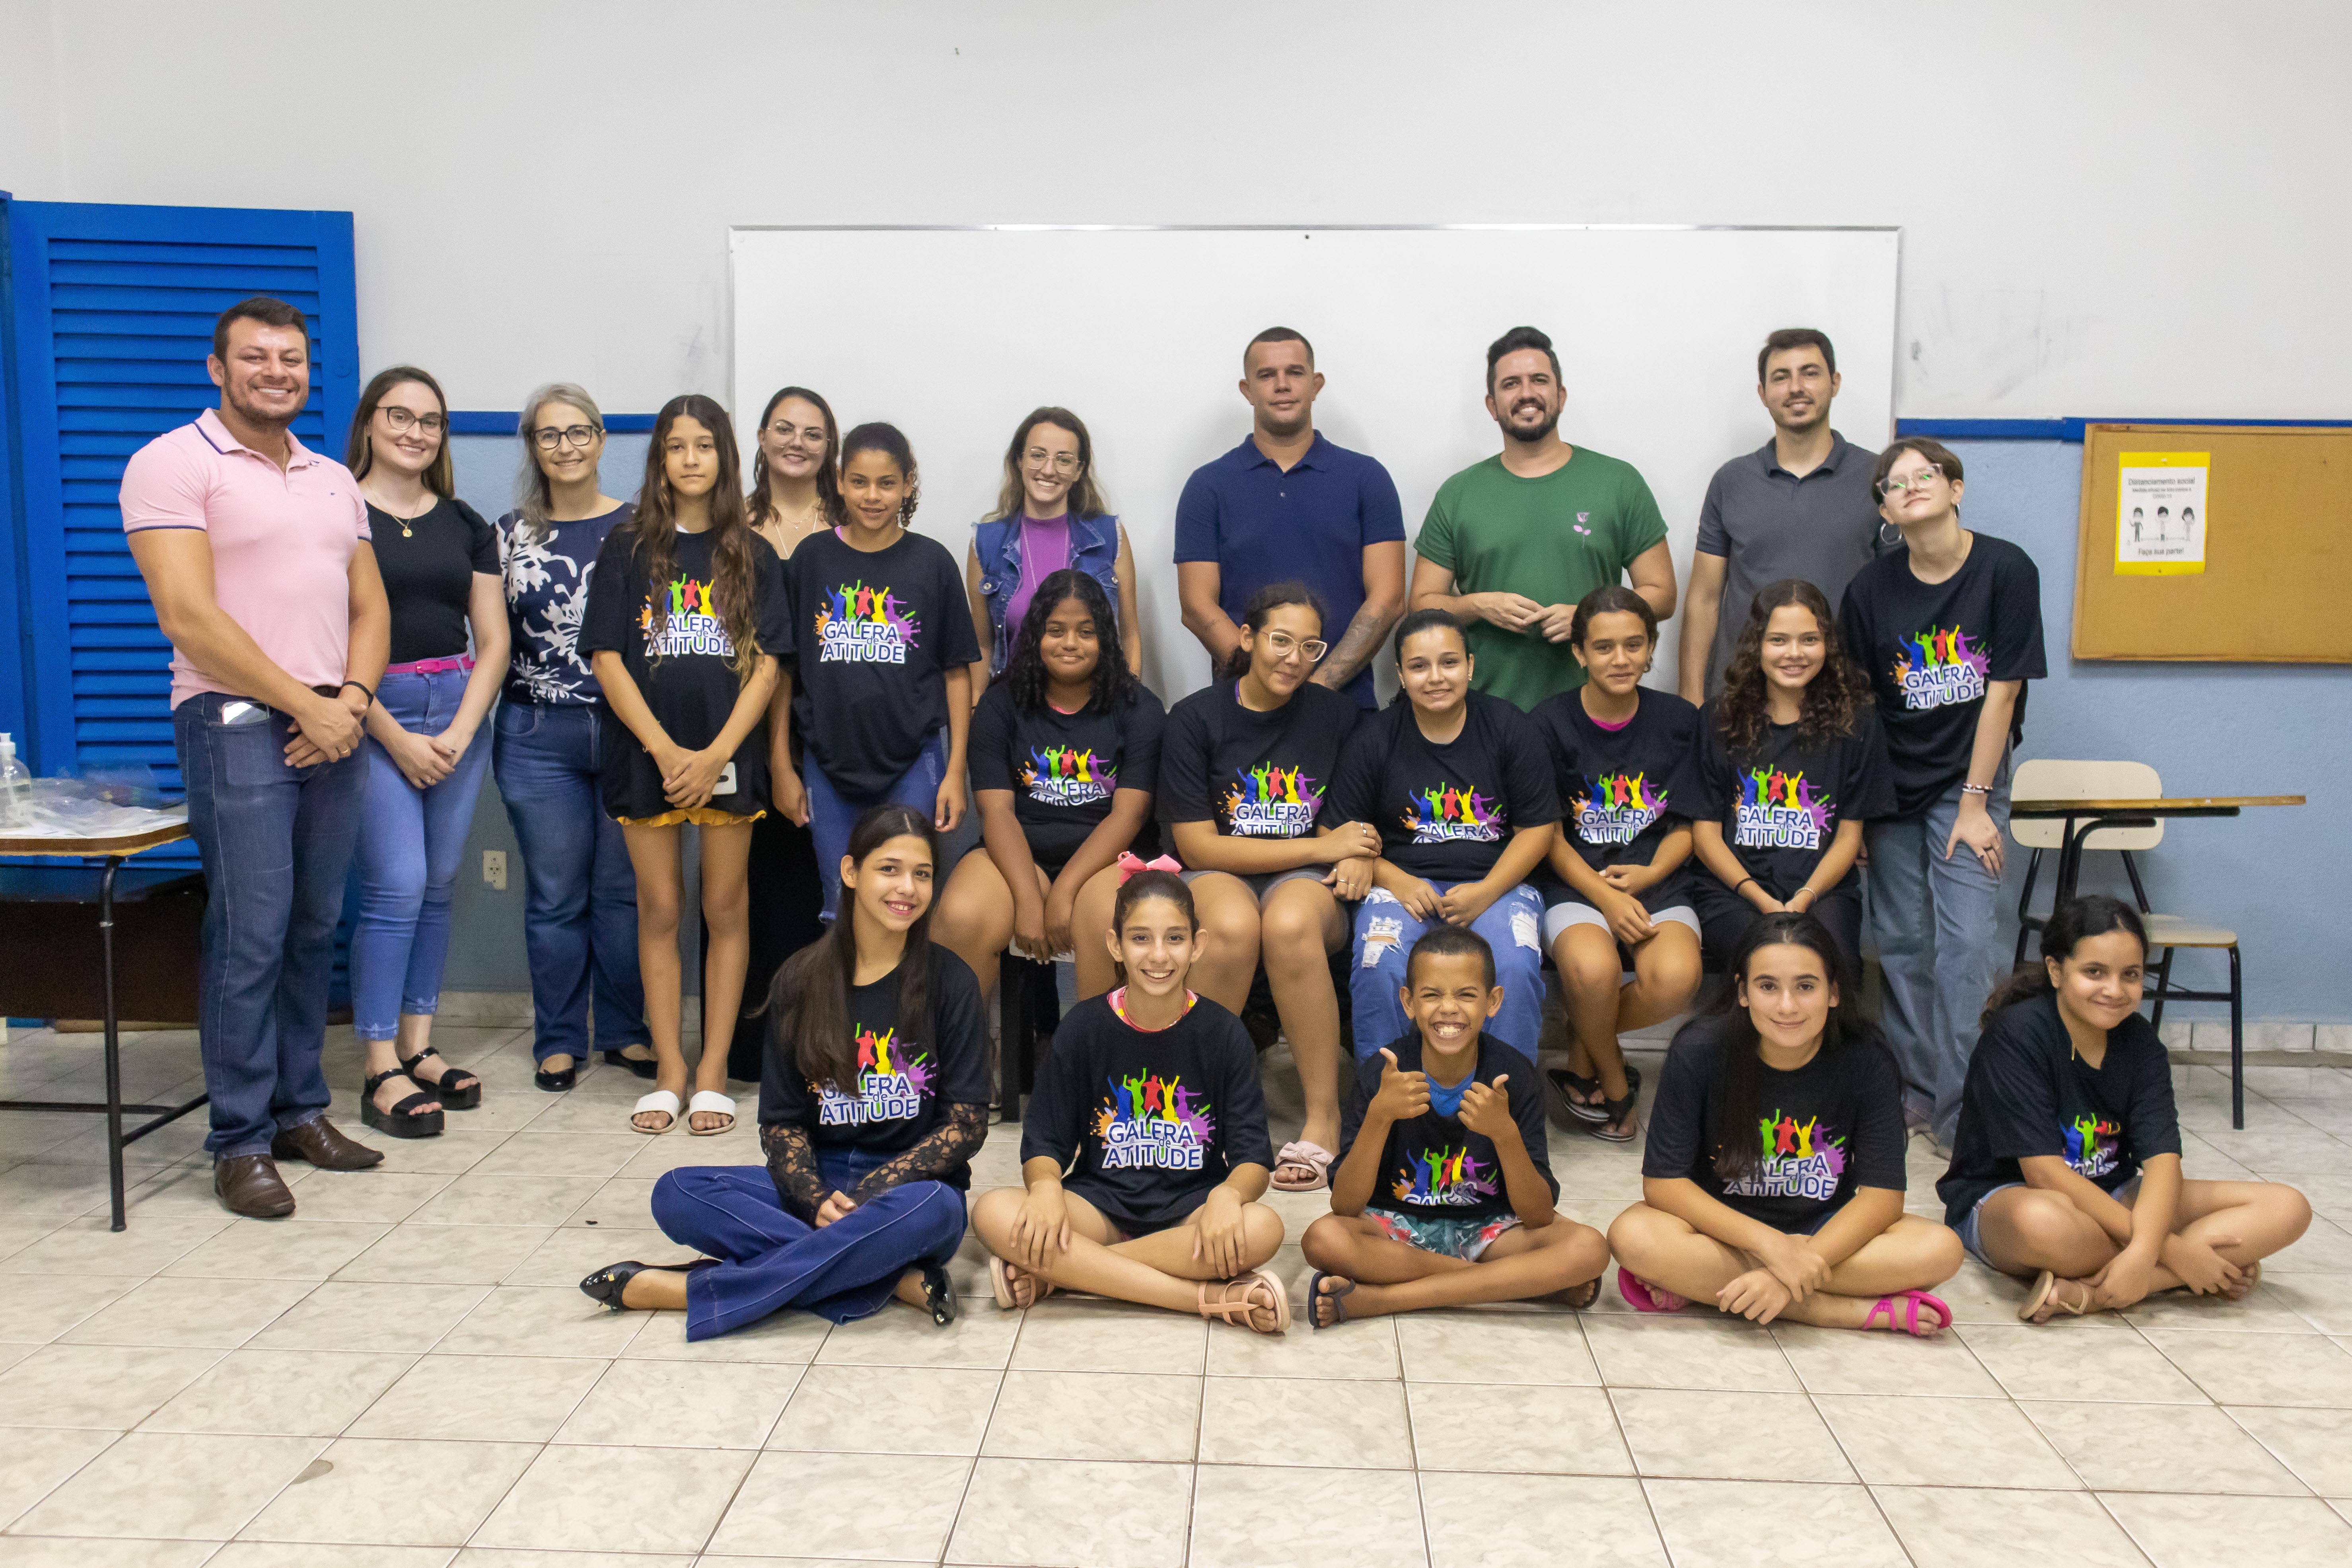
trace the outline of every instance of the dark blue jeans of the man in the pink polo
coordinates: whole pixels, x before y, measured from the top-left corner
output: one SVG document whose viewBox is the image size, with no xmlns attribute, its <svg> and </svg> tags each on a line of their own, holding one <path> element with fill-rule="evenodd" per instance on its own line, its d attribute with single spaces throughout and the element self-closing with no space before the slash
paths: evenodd
<svg viewBox="0 0 2352 1568">
<path fill-rule="evenodd" d="M 205 691 L 172 710 L 207 884 L 198 1044 L 214 1159 L 268 1154 L 282 1128 L 327 1110 L 318 1056 L 334 922 L 367 792 L 358 757 L 287 766 L 294 724 L 280 712 L 223 726 L 221 708 L 233 701 Z"/>
</svg>

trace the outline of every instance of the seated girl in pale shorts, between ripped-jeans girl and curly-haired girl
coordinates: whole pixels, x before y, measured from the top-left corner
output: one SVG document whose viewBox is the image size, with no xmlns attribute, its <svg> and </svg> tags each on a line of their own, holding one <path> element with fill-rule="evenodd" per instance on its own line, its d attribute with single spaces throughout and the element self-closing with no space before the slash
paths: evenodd
<svg viewBox="0 0 2352 1568">
<path fill-rule="evenodd" d="M 1663 1023 L 1698 992 L 1689 816 L 1698 809 L 1698 710 L 1644 691 L 1658 611 L 1632 588 L 1576 604 L 1569 646 L 1585 684 L 1529 715 L 1552 748 L 1559 839 L 1543 884 L 1543 940 L 1569 1011 L 1566 1067 L 1552 1067 L 1569 1114 L 1604 1143 L 1632 1143 L 1642 1074 L 1618 1034 Z M 1632 969 L 1632 985 L 1621 985 Z"/>
</svg>

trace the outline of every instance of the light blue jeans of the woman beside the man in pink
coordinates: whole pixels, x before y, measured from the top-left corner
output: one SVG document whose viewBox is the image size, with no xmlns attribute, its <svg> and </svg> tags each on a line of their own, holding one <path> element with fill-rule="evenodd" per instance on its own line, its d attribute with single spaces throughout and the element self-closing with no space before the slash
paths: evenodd
<svg viewBox="0 0 2352 1568">
<path fill-rule="evenodd" d="M 466 698 L 466 670 L 386 675 L 376 701 L 400 729 L 437 736 Z M 360 816 L 360 919 L 350 929 L 350 1023 L 360 1039 L 393 1039 L 402 1013 L 440 1011 L 449 959 L 449 891 L 466 856 L 473 804 L 489 769 L 475 736 L 449 778 L 416 790 L 393 755 L 367 738 L 367 811 Z"/>
</svg>

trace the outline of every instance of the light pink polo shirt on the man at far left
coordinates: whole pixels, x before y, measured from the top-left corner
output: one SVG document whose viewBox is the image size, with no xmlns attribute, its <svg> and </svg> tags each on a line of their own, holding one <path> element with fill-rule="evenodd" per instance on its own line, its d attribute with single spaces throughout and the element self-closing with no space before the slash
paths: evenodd
<svg viewBox="0 0 2352 1568">
<path fill-rule="evenodd" d="M 350 552 L 367 538 L 360 482 L 287 433 L 292 461 L 242 444 L 214 409 L 165 430 L 122 468 L 122 531 L 202 529 L 212 597 L 306 686 L 343 679 L 350 649 Z M 172 705 L 223 686 L 172 649 Z"/>
</svg>

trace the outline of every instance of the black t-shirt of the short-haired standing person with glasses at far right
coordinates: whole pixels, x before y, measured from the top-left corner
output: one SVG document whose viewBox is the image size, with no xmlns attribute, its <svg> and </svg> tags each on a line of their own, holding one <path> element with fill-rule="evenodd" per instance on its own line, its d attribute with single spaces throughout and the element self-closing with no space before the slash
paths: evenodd
<svg viewBox="0 0 2352 1568">
<path fill-rule="evenodd" d="M 1893 816 L 1919 816 L 1969 776 L 1985 684 L 2042 679 L 2042 574 L 2006 538 L 1978 534 L 1943 583 L 1912 576 L 1910 550 L 1882 555 L 1846 583 L 1837 637 L 1879 696 L 1896 773 Z M 2009 743 L 2025 733 L 2025 689 Z"/>
</svg>

